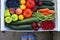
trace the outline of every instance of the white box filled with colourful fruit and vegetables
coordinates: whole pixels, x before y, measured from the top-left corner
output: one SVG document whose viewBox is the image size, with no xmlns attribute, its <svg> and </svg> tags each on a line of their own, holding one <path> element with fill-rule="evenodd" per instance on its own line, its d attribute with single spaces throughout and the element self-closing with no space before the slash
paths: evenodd
<svg viewBox="0 0 60 40">
<path fill-rule="evenodd" d="M 57 30 L 57 0 L 1 0 L 1 31 Z"/>
</svg>

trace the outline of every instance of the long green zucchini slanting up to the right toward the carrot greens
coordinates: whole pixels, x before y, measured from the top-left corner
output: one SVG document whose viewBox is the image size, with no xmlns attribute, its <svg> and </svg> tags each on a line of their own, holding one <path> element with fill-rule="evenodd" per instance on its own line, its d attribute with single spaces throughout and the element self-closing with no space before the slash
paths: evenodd
<svg viewBox="0 0 60 40">
<path fill-rule="evenodd" d="M 16 22 L 12 22 L 12 25 L 22 25 L 22 24 L 30 24 L 32 22 L 39 22 L 39 20 L 35 17 L 32 18 L 28 18 L 28 19 L 24 19 L 22 21 L 16 21 Z"/>
</svg>

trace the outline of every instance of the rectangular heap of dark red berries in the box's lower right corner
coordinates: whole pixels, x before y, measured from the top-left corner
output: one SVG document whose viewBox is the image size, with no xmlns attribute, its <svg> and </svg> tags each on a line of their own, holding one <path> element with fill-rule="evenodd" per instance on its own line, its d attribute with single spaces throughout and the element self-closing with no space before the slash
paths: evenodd
<svg viewBox="0 0 60 40">
<path fill-rule="evenodd" d="M 43 30 L 52 30 L 55 27 L 55 23 L 53 21 L 42 21 L 41 27 Z"/>
</svg>

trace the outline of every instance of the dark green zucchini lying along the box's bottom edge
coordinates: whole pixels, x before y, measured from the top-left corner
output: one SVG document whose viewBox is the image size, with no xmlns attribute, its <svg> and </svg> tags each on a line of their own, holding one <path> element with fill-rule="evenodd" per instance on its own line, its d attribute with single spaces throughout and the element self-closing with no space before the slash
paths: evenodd
<svg viewBox="0 0 60 40">
<path fill-rule="evenodd" d="M 32 30 L 32 26 L 31 25 L 9 25 L 9 24 L 6 24 L 6 26 L 10 29 L 13 29 L 13 30 Z"/>
</svg>

